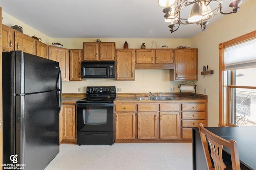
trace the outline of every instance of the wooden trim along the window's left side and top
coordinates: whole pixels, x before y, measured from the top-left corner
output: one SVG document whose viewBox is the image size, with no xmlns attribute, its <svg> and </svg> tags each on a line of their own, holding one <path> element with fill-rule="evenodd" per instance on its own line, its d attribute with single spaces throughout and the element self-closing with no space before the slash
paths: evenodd
<svg viewBox="0 0 256 170">
<path fill-rule="evenodd" d="M 228 88 L 229 87 L 227 83 L 228 74 L 226 74 L 226 71 L 225 71 L 224 50 L 226 47 L 235 45 L 237 43 L 242 43 L 244 41 L 253 39 L 255 37 L 256 37 L 256 30 L 219 44 L 219 82 L 220 82 L 219 83 L 219 126 L 220 127 L 234 126 L 230 122 L 230 115 L 229 115 L 229 106 L 228 106 L 228 102 L 229 102 Z M 231 81 L 234 81 L 234 78 L 231 77 Z"/>
</svg>

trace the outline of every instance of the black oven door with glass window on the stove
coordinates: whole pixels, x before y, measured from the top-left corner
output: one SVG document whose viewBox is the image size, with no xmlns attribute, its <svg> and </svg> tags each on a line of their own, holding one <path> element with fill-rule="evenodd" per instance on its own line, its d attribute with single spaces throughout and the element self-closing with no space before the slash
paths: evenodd
<svg viewBox="0 0 256 170">
<path fill-rule="evenodd" d="M 78 103 L 77 132 L 114 131 L 113 103 Z"/>
</svg>

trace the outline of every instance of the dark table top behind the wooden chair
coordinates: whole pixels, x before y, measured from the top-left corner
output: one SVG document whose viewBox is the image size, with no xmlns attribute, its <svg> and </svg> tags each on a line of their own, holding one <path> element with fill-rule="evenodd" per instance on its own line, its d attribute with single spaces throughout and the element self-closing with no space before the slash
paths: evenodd
<svg viewBox="0 0 256 170">
<path fill-rule="evenodd" d="M 194 127 L 198 131 L 198 127 Z M 248 168 L 256 170 L 256 127 L 206 127 L 212 133 L 238 144 L 239 159 Z M 230 150 L 224 150 L 230 154 Z"/>
</svg>

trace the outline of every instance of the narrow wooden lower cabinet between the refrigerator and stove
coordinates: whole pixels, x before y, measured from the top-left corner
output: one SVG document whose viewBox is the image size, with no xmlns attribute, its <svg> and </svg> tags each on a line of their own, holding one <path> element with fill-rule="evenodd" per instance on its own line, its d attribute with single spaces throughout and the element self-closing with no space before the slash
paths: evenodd
<svg viewBox="0 0 256 170">
<path fill-rule="evenodd" d="M 60 143 L 76 143 L 76 105 L 62 105 Z"/>
</svg>

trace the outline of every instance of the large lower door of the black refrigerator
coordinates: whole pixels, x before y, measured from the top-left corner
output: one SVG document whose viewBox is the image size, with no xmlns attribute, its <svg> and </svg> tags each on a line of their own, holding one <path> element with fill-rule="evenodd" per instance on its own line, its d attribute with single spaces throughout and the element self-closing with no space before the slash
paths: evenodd
<svg viewBox="0 0 256 170">
<path fill-rule="evenodd" d="M 16 154 L 26 170 L 44 169 L 59 152 L 56 93 L 16 96 Z"/>
</svg>

